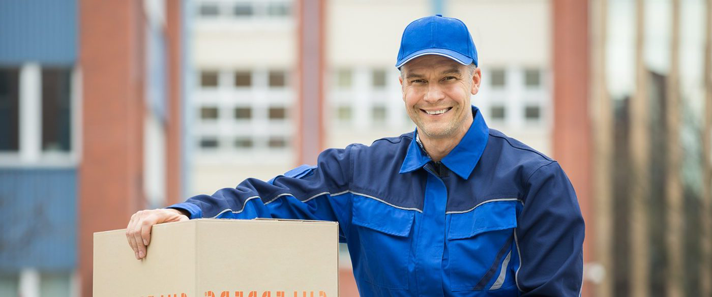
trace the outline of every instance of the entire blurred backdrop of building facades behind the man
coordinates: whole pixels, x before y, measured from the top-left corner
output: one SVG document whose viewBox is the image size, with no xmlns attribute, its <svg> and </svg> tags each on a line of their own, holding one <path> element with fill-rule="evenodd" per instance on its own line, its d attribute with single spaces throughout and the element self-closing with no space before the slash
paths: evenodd
<svg viewBox="0 0 712 297">
<path fill-rule="evenodd" d="M 582 295 L 712 296 L 712 0 L 2 0 L 0 296 L 91 296 L 93 232 L 414 130 L 394 63 L 432 14 L 572 180 Z"/>
</svg>

